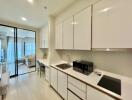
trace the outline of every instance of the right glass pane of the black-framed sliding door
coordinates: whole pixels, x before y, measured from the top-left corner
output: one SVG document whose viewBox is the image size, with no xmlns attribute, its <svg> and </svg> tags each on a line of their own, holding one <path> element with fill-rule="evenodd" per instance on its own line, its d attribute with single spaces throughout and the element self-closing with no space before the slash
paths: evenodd
<svg viewBox="0 0 132 100">
<path fill-rule="evenodd" d="M 35 71 L 35 32 L 17 30 L 18 74 Z"/>
</svg>

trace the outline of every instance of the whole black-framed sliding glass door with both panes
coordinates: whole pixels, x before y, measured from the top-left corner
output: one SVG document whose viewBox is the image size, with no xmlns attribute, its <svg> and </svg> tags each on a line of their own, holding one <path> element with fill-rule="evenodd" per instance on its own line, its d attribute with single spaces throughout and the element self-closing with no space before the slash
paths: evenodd
<svg viewBox="0 0 132 100">
<path fill-rule="evenodd" d="M 8 70 L 10 76 L 36 70 L 35 47 L 35 32 L 0 25 L 0 66 Z"/>
</svg>

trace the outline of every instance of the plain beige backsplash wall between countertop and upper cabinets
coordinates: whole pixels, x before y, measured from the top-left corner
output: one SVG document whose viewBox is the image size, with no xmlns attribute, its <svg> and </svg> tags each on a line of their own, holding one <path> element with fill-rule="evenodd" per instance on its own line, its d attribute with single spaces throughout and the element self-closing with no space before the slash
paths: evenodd
<svg viewBox="0 0 132 100">
<path fill-rule="evenodd" d="M 94 67 L 115 74 L 132 77 L 132 52 L 121 51 L 60 51 L 61 58 L 70 60 L 87 60 L 94 62 Z"/>
</svg>

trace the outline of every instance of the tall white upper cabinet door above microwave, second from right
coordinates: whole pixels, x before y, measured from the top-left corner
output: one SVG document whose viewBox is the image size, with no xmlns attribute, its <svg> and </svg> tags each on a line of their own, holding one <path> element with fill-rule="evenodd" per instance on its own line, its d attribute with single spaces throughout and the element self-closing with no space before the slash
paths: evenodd
<svg viewBox="0 0 132 100">
<path fill-rule="evenodd" d="M 74 49 L 91 50 L 91 7 L 74 16 Z"/>
</svg>

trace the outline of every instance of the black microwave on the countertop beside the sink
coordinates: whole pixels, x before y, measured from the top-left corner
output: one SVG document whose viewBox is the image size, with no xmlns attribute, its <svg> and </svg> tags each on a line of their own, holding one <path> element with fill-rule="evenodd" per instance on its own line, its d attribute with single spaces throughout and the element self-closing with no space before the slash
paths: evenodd
<svg viewBox="0 0 132 100">
<path fill-rule="evenodd" d="M 93 63 L 89 61 L 73 61 L 73 70 L 89 75 L 93 72 Z"/>
</svg>

